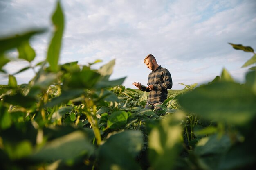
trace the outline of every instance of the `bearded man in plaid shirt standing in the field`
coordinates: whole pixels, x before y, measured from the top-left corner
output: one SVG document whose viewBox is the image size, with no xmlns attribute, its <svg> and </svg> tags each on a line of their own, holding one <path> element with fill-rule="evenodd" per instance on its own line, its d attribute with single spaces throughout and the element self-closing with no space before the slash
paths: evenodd
<svg viewBox="0 0 256 170">
<path fill-rule="evenodd" d="M 149 54 L 144 63 L 147 68 L 152 70 L 148 75 L 148 87 L 144 88 L 140 83 L 134 82 L 133 85 L 142 91 L 149 92 L 148 100 L 145 108 L 160 109 L 157 105 L 162 104 L 167 98 L 168 91 L 173 86 L 173 81 L 170 72 L 157 64 L 155 57 Z"/>
</svg>

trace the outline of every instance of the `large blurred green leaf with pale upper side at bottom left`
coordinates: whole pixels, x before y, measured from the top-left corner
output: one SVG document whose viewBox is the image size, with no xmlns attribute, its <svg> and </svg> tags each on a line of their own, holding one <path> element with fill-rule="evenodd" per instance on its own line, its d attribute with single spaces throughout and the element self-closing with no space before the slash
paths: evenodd
<svg viewBox="0 0 256 170">
<path fill-rule="evenodd" d="M 88 136 L 81 131 L 74 131 L 47 142 L 43 148 L 31 155 L 30 159 L 39 161 L 68 160 L 81 154 L 90 155 L 93 151 L 94 146 Z"/>
</svg>

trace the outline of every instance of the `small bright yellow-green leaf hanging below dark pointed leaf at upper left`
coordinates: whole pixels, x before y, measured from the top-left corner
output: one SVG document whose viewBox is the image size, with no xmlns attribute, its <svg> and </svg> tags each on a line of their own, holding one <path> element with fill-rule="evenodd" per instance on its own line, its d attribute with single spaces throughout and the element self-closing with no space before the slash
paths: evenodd
<svg viewBox="0 0 256 170">
<path fill-rule="evenodd" d="M 36 57 L 36 52 L 35 50 L 30 46 L 29 41 L 23 41 L 19 46 L 18 46 L 18 52 L 19 52 L 19 58 L 20 59 L 25 59 L 29 62 L 33 61 L 34 58 Z"/>
</svg>

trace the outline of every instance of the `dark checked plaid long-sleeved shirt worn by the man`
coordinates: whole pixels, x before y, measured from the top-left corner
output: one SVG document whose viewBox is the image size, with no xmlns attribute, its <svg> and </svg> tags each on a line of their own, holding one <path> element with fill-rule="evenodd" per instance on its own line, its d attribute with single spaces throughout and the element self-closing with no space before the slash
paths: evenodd
<svg viewBox="0 0 256 170">
<path fill-rule="evenodd" d="M 151 105 L 164 102 L 167 99 L 167 89 L 171 89 L 173 86 L 170 72 L 159 65 L 148 75 L 148 85 L 153 85 L 154 89 L 149 91 L 147 102 Z"/>
</svg>

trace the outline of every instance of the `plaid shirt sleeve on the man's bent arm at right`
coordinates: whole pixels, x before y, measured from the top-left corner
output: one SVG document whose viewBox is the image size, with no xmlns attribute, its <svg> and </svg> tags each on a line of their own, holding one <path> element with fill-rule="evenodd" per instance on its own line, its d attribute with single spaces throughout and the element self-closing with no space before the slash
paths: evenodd
<svg viewBox="0 0 256 170">
<path fill-rule="evenodd" d="M 163 71 L 162 76 L 163 76 L 164 83 L 155 84 L 154 89 L 156 90 L 171 89 L 173 87 L 171 73 L 167 69 L 165 69 Z"/>
</svg>

